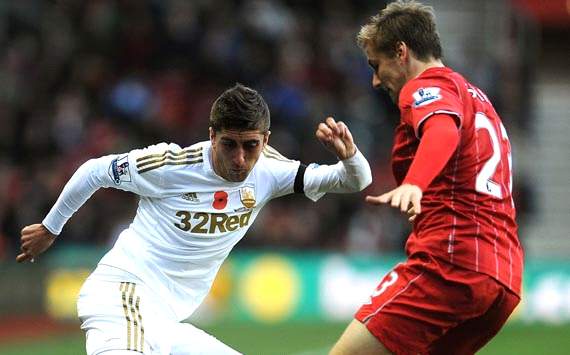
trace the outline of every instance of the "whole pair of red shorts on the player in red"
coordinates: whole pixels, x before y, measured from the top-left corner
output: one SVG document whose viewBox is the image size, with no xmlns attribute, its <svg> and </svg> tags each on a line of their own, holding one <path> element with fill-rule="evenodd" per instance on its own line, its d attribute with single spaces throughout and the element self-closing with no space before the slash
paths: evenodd
<svg viewBox="0 0 570 355">
<path fill-rule="evenodd" d="M 395 354 L 474 354 L 519 301 L 490 276 L 421 254 L 389 272 L 355 318 Z"/>
</svg>

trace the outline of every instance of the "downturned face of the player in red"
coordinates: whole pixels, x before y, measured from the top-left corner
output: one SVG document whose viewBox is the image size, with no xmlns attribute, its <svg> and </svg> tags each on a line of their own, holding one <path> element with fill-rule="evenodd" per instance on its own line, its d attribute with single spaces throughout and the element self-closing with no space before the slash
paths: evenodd
<svg viewBox="0 0 570 355">
<path fill-rule="evenodd" d="M 406 83 L 406 72 L 402 63 L 397 57 L 391 58 L 385 54 L 372 51 L 366 48 L 368 64 L 373 70 L 372 86 L 375 89 L 383 89 L 392 98 L 394 103 L 398 103 L 398 97 L 404 84 Z"/>
</svg>

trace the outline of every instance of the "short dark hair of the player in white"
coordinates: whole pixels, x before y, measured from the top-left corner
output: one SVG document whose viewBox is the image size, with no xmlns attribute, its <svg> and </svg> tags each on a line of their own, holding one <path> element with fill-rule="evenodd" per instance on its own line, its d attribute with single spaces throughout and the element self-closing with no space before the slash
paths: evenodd
<svg viewBox="0 0 570 355">
<path fill-rule="evenodd" d="M 261 95 L 242 84 L 224 91 L 214 101 L 210 112 L 210 127 L 216 132 L 223 129 L 240 131 L 269 130 L 269 107 Z"/>
</svg>

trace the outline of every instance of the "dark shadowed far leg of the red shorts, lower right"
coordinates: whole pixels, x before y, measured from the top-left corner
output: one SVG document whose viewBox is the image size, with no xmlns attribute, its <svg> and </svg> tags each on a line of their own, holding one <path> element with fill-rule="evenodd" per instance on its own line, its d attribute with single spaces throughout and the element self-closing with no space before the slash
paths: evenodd
<svg viewBox="0 0 570 355">
<path fill-rule="evenodd" d="M 481 285 L 483 286 L 483 285 Z M 520 298 L 489 277 L 489 285 L 481 293 L 495 295 L 488 310 L 481 316 L 466 320 L 437 340 L 430 354 L 474 354 L 487 344 L 508 320 Z"/>
</svg>

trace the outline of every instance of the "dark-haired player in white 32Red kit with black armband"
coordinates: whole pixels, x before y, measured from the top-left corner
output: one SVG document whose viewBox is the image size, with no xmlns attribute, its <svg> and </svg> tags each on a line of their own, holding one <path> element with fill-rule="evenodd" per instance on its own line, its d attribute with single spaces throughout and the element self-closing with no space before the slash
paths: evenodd
<svg viewBox="0 0 570 355">
<path fill-rule="evenodd" d="M 207 295 L 218 269 L 271 199 L 357 192 L 370 166 L 347 126 L 328 117 L 316 136 L 340 160 L 310 164 L 267 142 L 269 109 L 237 84 L 213 104 L 210 140 L 161 143 L 84 163 L 41 224 L 22 229 L 18 262 L 33 261 L 101 187 L 140 196 L 136 216 L 81 288 L 77 302 L 89 355 L 237 354 L 183 321 Z"/>
</svg>

